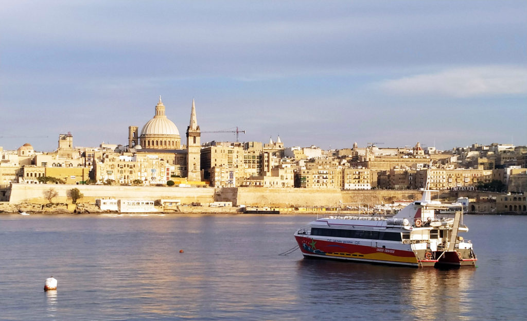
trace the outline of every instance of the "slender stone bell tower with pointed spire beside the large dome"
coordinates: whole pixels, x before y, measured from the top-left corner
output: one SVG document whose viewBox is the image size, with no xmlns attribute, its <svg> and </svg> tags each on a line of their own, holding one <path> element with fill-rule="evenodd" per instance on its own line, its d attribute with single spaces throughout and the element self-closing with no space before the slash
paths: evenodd
<svg viewBox="0 0 527 321">
<path fill-rule="evenodd" d="M 189 181 L 201 181 L 201 131 L 196 118 L 196 105 L 192 99 L 192 111 L 190 112 L 190 124 L 187 128 L 187 179 Z"/>
</svg>

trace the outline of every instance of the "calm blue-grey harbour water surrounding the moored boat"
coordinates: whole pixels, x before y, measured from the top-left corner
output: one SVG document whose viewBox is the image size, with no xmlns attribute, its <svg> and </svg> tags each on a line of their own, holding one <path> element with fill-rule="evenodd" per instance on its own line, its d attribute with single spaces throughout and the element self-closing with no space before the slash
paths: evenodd
<svg viewBox="0 0 527 321">
<path fill-rule="evenodd" d="M 0 216 L 0 319 L 527 318 L 527 217 L 466 216 L 455 270 L 280 256 L 312 218 Z"/>
</svg>

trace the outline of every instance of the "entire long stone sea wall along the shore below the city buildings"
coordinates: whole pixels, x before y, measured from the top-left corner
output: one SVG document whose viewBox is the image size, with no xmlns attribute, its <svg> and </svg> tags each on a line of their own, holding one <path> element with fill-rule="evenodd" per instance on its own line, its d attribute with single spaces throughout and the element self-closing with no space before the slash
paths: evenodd
<svg viewBox="0 0 527 321">
<path fill-rule="evenodd" d="M 370 206 L 392 201 L 411 201 L 421 198 L 416 190 L 354 190 L 305 189 L 305 188 L 198 188 L 198 187 L 137 187 L 74 184 L 13 184 L 9 203 L 48 203 L 44 193 L 53 188 L 58 196 L 54 203 L 71 203 L 68 193 L 78 188 L 84 197 L 78 202 L 95 203 L 97 198 L 115 199 L 179 199 L 181 204 L 213 201 L 230 201 L 233 206 L 272 207 L 336 207 L 346 204 L 369 204 Z"/>
</svg>

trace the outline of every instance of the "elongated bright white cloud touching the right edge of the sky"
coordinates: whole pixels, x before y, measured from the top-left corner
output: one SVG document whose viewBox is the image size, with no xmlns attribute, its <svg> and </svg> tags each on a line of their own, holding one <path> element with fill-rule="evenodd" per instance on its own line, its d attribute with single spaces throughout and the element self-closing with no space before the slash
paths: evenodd
<svg viewBox="0 0 527 321">
<path fill-rule="evenodd" d="M 377 84 L 380 89 L 400 95 L 436 95 L 476 98 L 527 94 L 524 66 L 477 66 L 418 74 Z"/>
</svg>

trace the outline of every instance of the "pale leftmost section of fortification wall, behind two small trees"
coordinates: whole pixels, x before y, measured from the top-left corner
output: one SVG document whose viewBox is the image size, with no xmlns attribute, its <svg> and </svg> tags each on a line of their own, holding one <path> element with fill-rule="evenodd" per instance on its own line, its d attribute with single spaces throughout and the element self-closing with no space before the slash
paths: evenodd
<svg viewBox="0 0 527 321">
<path fill-rule="evenodd" d="M 44 192 L 50 188 L 58 192 L 53 202 L 71 202 L 68 192 L 78 188 L 84 197 L 79 202 L 95 203 L 96 198 L 116 199 L 180 199 L 182 204 L 192 202 L 210 203 L 214 201 L 213 188 L 198 187 L 161 187 L 161 186 L 104 186 L 104 185 L 75 185 L 75 184 L 13 184 L 9 203 L 47 202 Z"/>
</svg>

